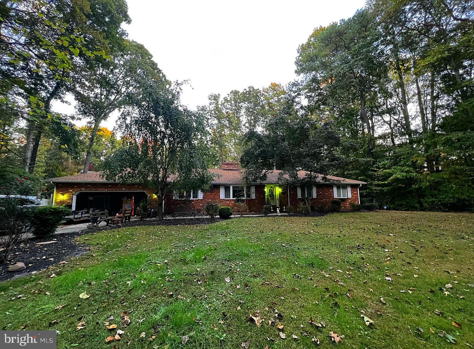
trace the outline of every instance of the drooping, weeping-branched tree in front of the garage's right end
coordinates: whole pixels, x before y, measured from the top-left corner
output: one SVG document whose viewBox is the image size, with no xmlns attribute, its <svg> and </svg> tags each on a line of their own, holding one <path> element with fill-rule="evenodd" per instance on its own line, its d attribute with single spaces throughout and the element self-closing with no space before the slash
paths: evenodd
<svg viewBox="0 0 474 349">
<path fill-rule="evenodd" d="M 106 158 L 102 176 L 153 188 L 163 219 L 164 199 L 173 190 L 210 188 L 203 142 L 207 131 L 203 116 L 180 104 L 179 84 L 155 80 L 141 91 L 119 117 L 122 147 Z"/>
</svg>

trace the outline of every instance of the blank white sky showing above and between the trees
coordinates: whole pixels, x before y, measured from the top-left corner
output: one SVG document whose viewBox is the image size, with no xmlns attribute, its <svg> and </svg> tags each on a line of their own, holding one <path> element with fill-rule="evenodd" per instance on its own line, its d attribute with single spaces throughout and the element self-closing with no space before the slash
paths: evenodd
<svg viewBox="0 0 474 349">
<path fill-rule="evenodd" d="M 128 0 L 129 38 L 153 55 L 171 81 L 188 80 L 182 102 L 208 103 L 211 93 L 286 85 L 297 78 L 298 45 L 314 28 L 352 16 L 365 0 L 158 1 Z M 71 105 L 54 103 L 73 114 Z M 113 129 L 117 115 L 102 122 Z M 85 120 L 78 125 L 84 125 Z"/>
</svg>

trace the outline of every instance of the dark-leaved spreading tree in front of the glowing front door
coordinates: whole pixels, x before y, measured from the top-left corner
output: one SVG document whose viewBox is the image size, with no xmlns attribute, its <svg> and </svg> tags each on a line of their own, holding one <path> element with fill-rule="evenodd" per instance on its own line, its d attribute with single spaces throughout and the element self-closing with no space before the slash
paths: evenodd
<svg viewBox="0 0 474 349">
<path fill-rule="evenodd" d="M 306 188 L 344 163 L 337 154 L 340 137 L 332 123 L 308 113 L 301 106 L 298 89 L 289 91 L 283 107 L 269 118 L 261 130 L 246 134 L 241 163 L 247 169 L 246 181 L 261 182 L 273 169 L 281 170 L 279 181 Z M 299 176 L 298 171 L 307 171 Z M 310 198 L 301 190 L 304 203 Z"/>
</svg>

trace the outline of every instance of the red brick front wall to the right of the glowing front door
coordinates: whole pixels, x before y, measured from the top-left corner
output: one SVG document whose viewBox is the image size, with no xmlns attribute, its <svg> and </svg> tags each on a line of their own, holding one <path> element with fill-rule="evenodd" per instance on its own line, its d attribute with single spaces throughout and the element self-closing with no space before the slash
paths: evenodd
<svg viewBox="0 0 474 349">
<path fill-rule="evenodd" d="M 351 186 L 351 197 L 347 198 L 340 198 L 341 200 L 341 209 L 343 211 L 348 211 L 351 209 L 351 202 L 356 204 L 359 203 L 359 196 L 358 196 L 358 186 Z M 334 200 L 334 191 L 332 184 L 322 184 L 316 186 L 316 197 L 311 199 L 311 206 L 314 208 L 318 208 L 319 205 L 324 205 L 325 209 L 329 209 L 331 206 L 331 200 Z M 290 204 L 294 208 L 298 205 L 301 201 L 298 198 L 298 192 L 296 187 L 290 188 Z M 280 200 L 281 203 L 281 200 Z"/>
</svg>

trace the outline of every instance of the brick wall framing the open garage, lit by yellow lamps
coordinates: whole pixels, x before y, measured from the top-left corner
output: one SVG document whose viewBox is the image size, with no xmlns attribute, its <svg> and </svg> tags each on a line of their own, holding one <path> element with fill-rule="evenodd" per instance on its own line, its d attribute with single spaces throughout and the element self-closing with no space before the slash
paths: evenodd
<svg viewBox="0 0 474 349">
<path fill-rule="evenodd" d="M 150 208 L 158 207 L 153 190 L 138 184 L 117 183 L 56 183 L 55 205 L 72 205 L 73 195 L 78 191 L 145 191 Z"/>
</svg>

